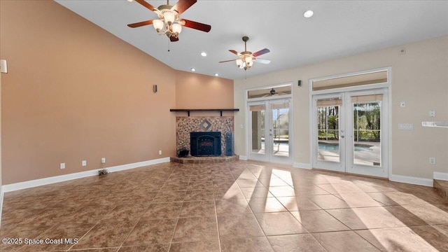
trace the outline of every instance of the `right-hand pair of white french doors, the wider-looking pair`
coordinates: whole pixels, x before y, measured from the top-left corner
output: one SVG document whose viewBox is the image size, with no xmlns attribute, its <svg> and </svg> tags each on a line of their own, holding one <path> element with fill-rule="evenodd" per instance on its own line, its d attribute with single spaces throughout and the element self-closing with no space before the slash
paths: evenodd
<svg viewBox="0 0 448 252">
<path fill-rule="evenodd" d="M 313 167 L 388 177 L 386 88 L 315 94 Z"/>
</svg>

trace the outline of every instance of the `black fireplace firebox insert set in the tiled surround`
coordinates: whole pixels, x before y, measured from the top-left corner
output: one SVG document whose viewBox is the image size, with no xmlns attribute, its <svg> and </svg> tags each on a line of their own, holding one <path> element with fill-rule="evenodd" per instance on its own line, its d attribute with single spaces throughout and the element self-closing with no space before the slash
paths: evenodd
<svg viewBox="0 0 448 252">
<path fill-rule="evenodd" d="M 190 154 L 195 157 L 221 155 L 221 132 L 190 132 Z"/>
</svg>

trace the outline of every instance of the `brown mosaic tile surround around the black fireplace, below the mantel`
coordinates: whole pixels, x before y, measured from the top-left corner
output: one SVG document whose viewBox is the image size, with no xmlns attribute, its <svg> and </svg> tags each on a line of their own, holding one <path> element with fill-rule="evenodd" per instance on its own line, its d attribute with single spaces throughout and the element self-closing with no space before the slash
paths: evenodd
<svg viewBox="0 0 448 252">
<path fill-rule="evenodd" d="M 233 116 L 176 116 L 176 146 L 190 151 L 190 132 L 221 132 L 221 153 L 225 155 L 225 134 L 235 136 Z"/>
</svg>

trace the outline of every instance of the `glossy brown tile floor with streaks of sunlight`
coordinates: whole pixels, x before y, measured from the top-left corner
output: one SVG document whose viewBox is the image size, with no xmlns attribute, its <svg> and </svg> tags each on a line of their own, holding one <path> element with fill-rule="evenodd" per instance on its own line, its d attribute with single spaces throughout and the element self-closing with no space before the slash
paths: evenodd
<svg viewBox="0 0 448 252">
<path fill-rule="evenodd" d="M 448 251 L 448 204 L 360 176 L 164 163 L 6 193 L 0 237 L 21 239 L 5 252 Z"/>
</svg>

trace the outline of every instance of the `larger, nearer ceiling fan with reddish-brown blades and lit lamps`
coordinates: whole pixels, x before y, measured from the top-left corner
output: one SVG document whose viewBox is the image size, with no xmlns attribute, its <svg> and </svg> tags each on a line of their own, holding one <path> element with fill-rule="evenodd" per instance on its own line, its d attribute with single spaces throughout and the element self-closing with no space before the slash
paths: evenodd
<svg viewBox="0 0 448 252">
<path fill-rule="evenodd" d="M 179 15 L 193 6 L 197 0 L 179 0 L 174 6 L 169 5 L 169 0 L 167 0 L 167 4 L 161 5 L 158 8 L 155 8 L 145 0 L 135 1 L 157 14 L 159 19 L 129 24 L 127 25 L 128 27 L 136 28 L 144 25 L 153 25 L 159 35 L 167 35 L 172 42 L 179 41 L 179 34 L 183 26 L 205 32 L 209 32 L 211 29 L 210 25 L 179 18 Z"/>
</svg>

